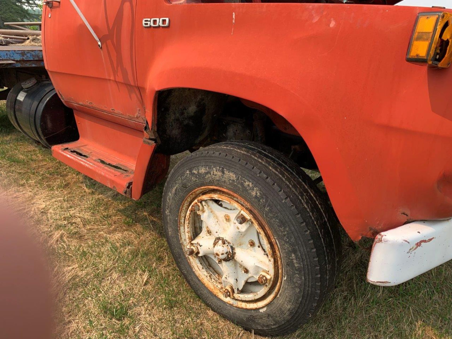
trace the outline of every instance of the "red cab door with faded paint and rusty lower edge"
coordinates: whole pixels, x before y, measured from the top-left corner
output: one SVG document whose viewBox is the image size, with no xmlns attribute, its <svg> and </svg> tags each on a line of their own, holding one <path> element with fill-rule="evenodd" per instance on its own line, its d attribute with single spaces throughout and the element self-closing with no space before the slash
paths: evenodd
<svg viewBox="0 0 452 339">
<path fill-rule="evenodd" d="M 107 113 L 107 120 L 115 115 L 145 122 L 135 66 L 136 2 L 75 0 L 101 48 L 69 0 L 45 8 L 44 58 L 66 105 Z"/>
</svg>

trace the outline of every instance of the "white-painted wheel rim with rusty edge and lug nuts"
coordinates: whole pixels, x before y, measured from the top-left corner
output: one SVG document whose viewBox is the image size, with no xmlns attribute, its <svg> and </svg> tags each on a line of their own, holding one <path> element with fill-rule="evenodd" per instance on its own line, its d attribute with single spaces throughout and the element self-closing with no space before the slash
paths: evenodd
<svg viewBox="0 0 452 339">
<path fill-rule="evenodd" d="M 278 244 L 239 195 L 213 186 L 195 189 L 180 209 L 179 236 L 193 272 L 221 300 L 257 309 L 277 296 L 282 282 Z"/>
</svg>

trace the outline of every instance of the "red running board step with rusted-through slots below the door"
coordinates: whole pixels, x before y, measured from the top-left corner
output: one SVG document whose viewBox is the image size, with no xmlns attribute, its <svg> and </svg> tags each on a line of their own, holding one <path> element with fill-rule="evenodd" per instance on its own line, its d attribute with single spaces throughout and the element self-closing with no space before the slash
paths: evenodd
<svg viewBox="0 0 452 339">
<path fill-rule="evenodd" d="M 81 141 L 53 146 L 52 155 L 89 178 L 131 197 L 133 164 Z"/>
</svg>

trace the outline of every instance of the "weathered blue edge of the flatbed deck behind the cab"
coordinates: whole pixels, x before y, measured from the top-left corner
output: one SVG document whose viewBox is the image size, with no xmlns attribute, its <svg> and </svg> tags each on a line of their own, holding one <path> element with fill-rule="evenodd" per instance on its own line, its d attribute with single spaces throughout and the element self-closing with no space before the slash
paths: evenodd
<svg viewBox="0 0 452 339">
<path fill-rule="evenodd" d="M 42 46 L 0 46 L 0 68 L 44 67 Z"/>
</svg>

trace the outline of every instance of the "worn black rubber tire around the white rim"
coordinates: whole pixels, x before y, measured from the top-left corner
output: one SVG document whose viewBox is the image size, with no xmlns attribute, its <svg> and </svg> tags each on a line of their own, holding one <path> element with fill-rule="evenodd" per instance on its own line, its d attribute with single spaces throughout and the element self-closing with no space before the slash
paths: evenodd
<svg viewBox="0 0 452 339">
<path fill-rule="evenodd" d="M 250 192 L 245 183 L 256 189 Z M 265 217 L 278 242 L 283 276 L 278 296 L 267 306 L 249 310 L 227 304 L 188 264 L 179 238 L 179 210 L 189 193 L 202 186 L 226 188 Z M 341 248 L 332 211 L 309 176 L 267 146 L 231 141 L 188 155 L 166 181 L 162 214 L 170 250 L 189 285 L 212 310 L 246 330 L 289 334 L 315 315 L 334 287 Z"/>
</svg>

